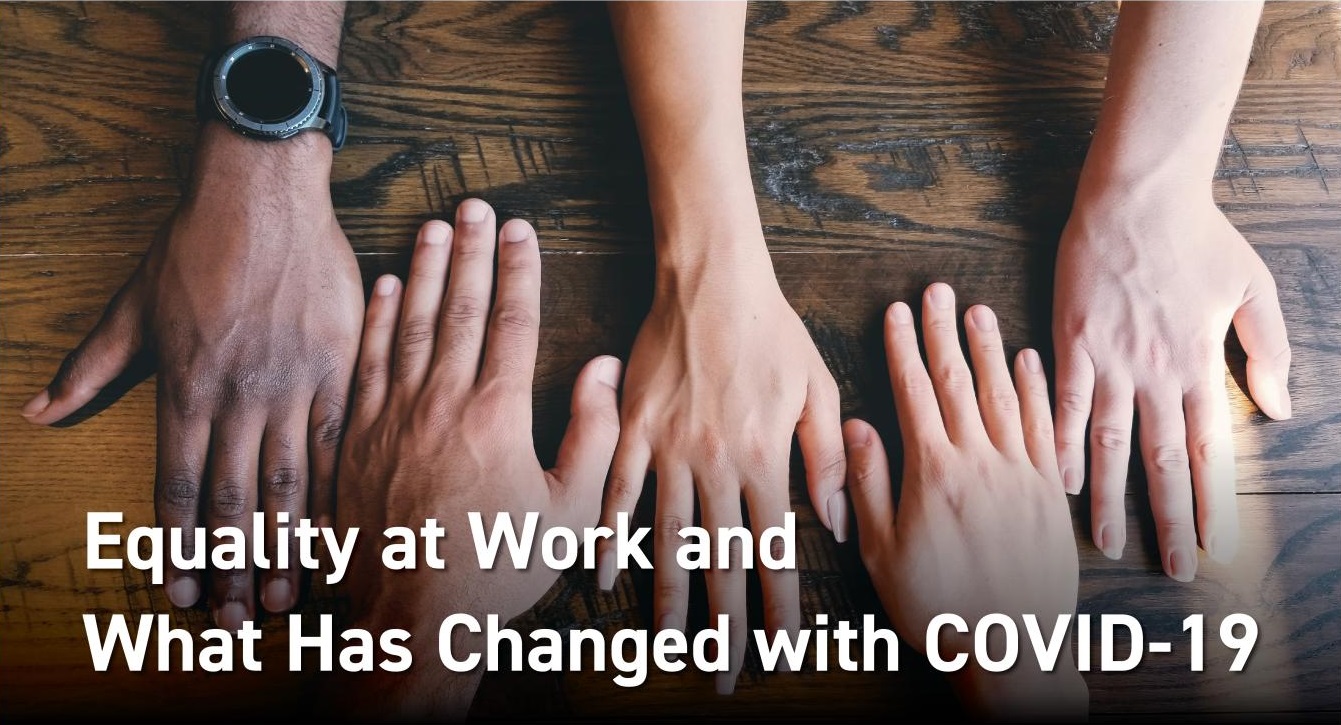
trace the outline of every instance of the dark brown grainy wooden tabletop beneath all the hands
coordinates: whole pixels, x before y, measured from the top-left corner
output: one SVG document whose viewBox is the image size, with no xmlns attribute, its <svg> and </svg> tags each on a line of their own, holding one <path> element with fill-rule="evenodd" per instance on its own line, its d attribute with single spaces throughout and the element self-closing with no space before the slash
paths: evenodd
<svg viewBox="0 0 1341 725">
<path fill-rule="evenodd" d="M 177 202 L 196 64 L 216 7 L 0 7 L 0 407 L 15 410 L 93 326 Z M 746 59 L 755 188 L 775 265 L 839 381 L 843 410 L 892 427 L 880 311 L 928 281 L 994 306 L 1007 346 L 1049 348 L 1051 257 L 1098 109 L 1112 4 L 756 4 Z M 333 194 L 367 279 L 402 271 L 414 228 L 467 196 L 531 220 L 544 249 L 535 433 L 551 457 L 581 363 L 626 354 L 650 299 L 645 184 L 605 8 L 351 4 L 341 72 L 353 135 Z M 1207 647 L 1088 677 L 1098 716 L 1341 713 L 1341 8 L 1269 4 L 1224 141 L 1215 197 L 1281 287 L 1294 419 L 1267 422 L 1228 346 L 1243 547 L 1198 580 L 1159 572 L 1139 476 L 1122 562 L 1073 501 L 1081 611 L 1136 614 L 1185 642 L 1183 616 L 1252 614 L 1242 675 Z M 141 576 L 83 567 L 83 516 L 152 520 L 153 382 L 82 425 L 0 415 L 0 702 L 23 717 L 302 713 L 267 622 L 263 675 L 98 674 L 79 615 L 173 611 Z M 878 610 L 794 482 L 807 616 Z M 518 626 L 646 626 L 650 580 L 613 594 L 574 572 Z M 308 611 L 337 603 L 320 587 Z M 697 616 L 703 616 L 703 607 Z M 204 627 L 204 610 L 176 611 Z M 763 674 L 736 696 L 705 675 L 489 675 L 480 716 L 861 717 L 949 700 L 898 674 Z M 436 666 L 428 662 L 424 666 Z M 296 693 L 296 694 L 295 694 Z"/>
</svg>

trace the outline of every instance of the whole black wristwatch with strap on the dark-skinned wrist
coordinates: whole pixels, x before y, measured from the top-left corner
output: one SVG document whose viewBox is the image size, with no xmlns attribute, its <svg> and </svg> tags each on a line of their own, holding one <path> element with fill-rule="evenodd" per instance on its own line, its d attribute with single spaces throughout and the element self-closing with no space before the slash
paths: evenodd
<svg viewBox="0 0 1341 725">
<path fill-rule="evenodd" d="M 335 71 L 274 35 L 248 38 L 205 58 L 196 115 L 266 141 L 325 131 L 337 151 L 349 126 Z"/>
</svg>

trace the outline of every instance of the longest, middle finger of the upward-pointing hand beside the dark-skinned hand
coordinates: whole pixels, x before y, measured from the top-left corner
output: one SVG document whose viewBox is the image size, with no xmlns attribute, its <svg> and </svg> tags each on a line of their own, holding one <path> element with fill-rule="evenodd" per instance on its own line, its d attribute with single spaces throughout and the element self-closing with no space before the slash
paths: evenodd
<svg viewBox="0 0 1341 725">
<path fill-rule="evenodd" d="M 455 391 L 475 385 L 484 350 L 484 326 L 493 292 L 493 209 L 477 198 L 456 208 L 452 276 L 439 319 L 434 375 Z"/>
</svg>

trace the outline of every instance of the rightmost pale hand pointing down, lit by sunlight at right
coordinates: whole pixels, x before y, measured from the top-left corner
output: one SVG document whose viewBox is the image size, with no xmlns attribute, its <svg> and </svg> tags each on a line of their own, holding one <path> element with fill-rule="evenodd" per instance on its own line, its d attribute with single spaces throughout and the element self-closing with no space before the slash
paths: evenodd
<svg viewBox="0 0 1341 725">
<path fill-rule="evenodd" d="M 1077 196 L 1057 256 L 1057 453 L 1077 493 L 1089 422 L 1094 544 L 1110 559 L 1126 543 L 1133 401 L 1164 571 L 1180 582 L 1196 575 L 1198 532 L 1208 555 L 1234 557 L 1230 320 L 1248 354 L 1252 399 L 1289 418 L 1290 344 L 1275 281 L 1210 194 L 1161 186 Z"/>
</svg>

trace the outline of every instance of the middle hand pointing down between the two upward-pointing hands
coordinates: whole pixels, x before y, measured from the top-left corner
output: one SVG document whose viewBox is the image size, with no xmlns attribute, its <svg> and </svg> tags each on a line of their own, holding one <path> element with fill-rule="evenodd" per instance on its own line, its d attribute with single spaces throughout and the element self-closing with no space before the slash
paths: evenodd
<svg viewBox="0 0 1341 725">
<path fill-rule="evenodd" d="M 638 332 L 624 386 L 624 434 L 610 473 L 602 524 L 630 512 L 649 466 L 657 473 L 654 616 L 658 630 L 685 627 L 689 574 L 676 563 L 692 525 L 695 493 L 713 535 L 742 525 L 740 497 L 756 532 L 782 525 L 790 511 L 789 457 L 795 432 L 821 521 L 842 541 L 848 509 L 838 389 L 805 324 L 772 277 L 763 240 L 759 257 L 712 276 L 669 275 Z M 715 260 L 725 269 L 725 260 Z M 614 583 L 613 547 L 601 551 L 599 583 Z M 732 662 L 717 674 L 730 693 L 744 661 L 746 571 L 707 571 L 713 619 L 728 615 Z M 758 568 L 770 631 L 801 626 L 795 571 Z"/>
</svg>

